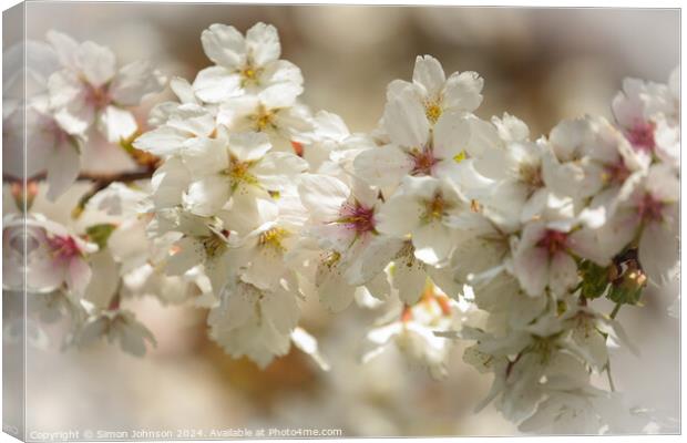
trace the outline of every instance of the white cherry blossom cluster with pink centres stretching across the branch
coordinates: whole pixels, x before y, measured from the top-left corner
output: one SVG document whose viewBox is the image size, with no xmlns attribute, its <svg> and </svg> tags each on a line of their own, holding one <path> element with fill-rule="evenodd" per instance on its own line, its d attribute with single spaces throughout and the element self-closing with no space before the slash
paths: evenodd
<svg viewBox="0 0 687 443">
<path fill-rule="evenodd" d="M 92 42 L 48 40 L 54 72 L 27 103 L 29 147 L 45 164 L 28 175 L 47 169 L 58 197 L 93 131 L 154 165 L 150 181 L 86 194 L 73 226 L 4 220 L 6 266 L 69 312 L 69 343 L 106 336 L 143 354 L 154 338 L 122 302 L 152 295 L 208 308 L 209 337 L 232 357 L 264 368 L 295 344 L 326 370 L 301 305 L 355 302 L 386 311 L 362 362 L 393 344 L 441 378 L 464 340 L 463 360 L 493 374 L 482 405 L 523 430 L 608 424 L 595 408 L 608 392 L 591 375 L 611 381 L 608 347 L 632 347 L 615 317 L 676 276 L 677 71 L 667 84 L 626 80 L 612 121 L 565 120 L 534 140 L 515 116 L 475 115 L 478 73 L 418 56 L 411 81 L 389 84 L 377 128 L 351 133 L 299 101 L 301 72 L 280 59 L 273 25 L 213 24 L 202 34 L 213 64 L 193 82 L 172 78 L 176 100 L 142 132 L 129 107 L 160 90 L 160 74 L 117 70 Z M 30 186 L 17 196 L 28 209 Z M 616 309 L 601 312 L 599 298 Z"/>
</svg>

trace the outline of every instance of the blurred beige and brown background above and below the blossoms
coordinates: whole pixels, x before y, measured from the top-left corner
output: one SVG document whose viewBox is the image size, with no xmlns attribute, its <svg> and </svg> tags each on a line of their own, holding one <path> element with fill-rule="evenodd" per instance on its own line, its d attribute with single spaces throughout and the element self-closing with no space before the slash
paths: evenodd
<svg viewBox="0 0 687 443">
<path fill-rule="evenodd" d="M 478 115 L 514 114 L 530 124 L 533 138 L 564 117 L 609 117 L 609 102 L 624 76 L 665 82 L 679 63 L 677 10 L 27 4 L 31 39 L 59 30 L 111 47 L 122 63 L 151 59 L 164 73 L 189 81 L 209 65 L 199 39 L 205 28 L 221 22 L 245 31 L 257 21 L 278 28 L 283 58 L 301 68 L 304 102 L 314 111 L 341 115 L 351 131 L 376 126 L 386 85 L 410 80 L 418 54 L 437 56 L 448 74 L 479 72 L 485 86 Z M 103 158 L 90 163 L 112 166 Z M 66 220 L 83 192 L 75 186 L 57 204 L 37 202 L 37 210 L 40 206 Z M 666 310 L 677 291 L 677 285 L 650 289 L 644 308 L 624 308 L 619 320 L 642 357 L 625 350 L 613 356 L 615 382 L 627 392 L 628 404 L 652 409 L 675 430 L 679 320 Z M 207 311 L 162 307 L 155 299 L 127 303 L 153 331 L 157 348 L 143 359 L 104 343 L 63 352 L 59 339 L 64 330 L 50 327 L 52 344 L 28 354 L 29 429 L 336 427 L 346 436 L 516 433 L 492 406 L 473 413 L 491 380 L 461 362 L 460 347 L 443 381 L 409 367 L 394 349 L 359 364 L 359 343 L 380 312 L 353 307 L 331 317 L 317 302 L 307 305 L 304 326 L 320 340 L 331 371 L 321 372 L 295 350 L 260 371 L 249 361 L 232 360 L 206 338 Z"/>
</svg>

